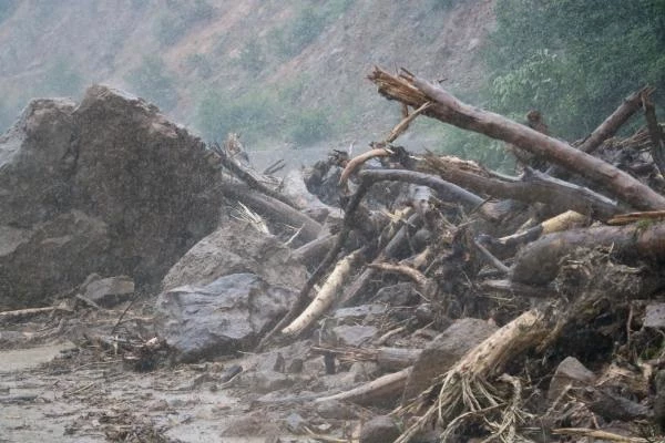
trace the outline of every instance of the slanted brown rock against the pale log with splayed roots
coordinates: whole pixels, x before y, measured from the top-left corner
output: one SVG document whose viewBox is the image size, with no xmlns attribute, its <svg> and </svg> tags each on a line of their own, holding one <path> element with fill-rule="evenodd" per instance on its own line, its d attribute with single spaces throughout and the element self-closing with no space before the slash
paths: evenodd
<svg viewBox="0 0 665 443">
<path fill-rule="evenodd" d="M 484 320 L 464 318 L 438 334 L 413 364 L 405 387 L 402 404 L 428 389 L 437 375 L 444 373 L 467 351 L 480 344 L 497 329 Z"/>
</svg>

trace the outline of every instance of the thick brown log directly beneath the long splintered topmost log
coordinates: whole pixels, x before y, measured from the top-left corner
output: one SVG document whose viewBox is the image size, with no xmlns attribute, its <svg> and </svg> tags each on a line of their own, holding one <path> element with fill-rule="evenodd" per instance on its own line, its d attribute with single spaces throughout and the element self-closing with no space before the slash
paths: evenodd
<svg viewBox="0 0 665 443">
<path fill-rule="evenodd" d="M 563 213 L 569 209 L 605 220 L 621 212 L 618 205 L 593 190 L 551 177 L 539 171 L 526 168 L 522 178 L 503 176 L 503 179 L 483 177 L 458 167 L 450 157 L 426 156 L 429 168 L 443 179 L 470 189 L 474 193 L 499 198 L 511 198 L 525 203 L 544 203 L 553 210 Z"/>
</svg>

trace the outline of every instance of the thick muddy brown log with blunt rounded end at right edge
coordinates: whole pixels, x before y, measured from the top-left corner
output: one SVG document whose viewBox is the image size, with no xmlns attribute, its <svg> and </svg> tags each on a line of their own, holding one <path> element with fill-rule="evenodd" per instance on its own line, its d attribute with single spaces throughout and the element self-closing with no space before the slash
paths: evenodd
<svg viewBox="0 0 665 443">
<path fill-rule="evenodd" d="M 511 279 L 525 285 L 548 284 L 556 276 L 563 256 L 580 247 L 597 246 L 612 247 L 614 254 L 626 259 L 665 259 L 665 223 L 600 226 L 549 234 L 520 250 L 511 269 Z"/>
</svg>

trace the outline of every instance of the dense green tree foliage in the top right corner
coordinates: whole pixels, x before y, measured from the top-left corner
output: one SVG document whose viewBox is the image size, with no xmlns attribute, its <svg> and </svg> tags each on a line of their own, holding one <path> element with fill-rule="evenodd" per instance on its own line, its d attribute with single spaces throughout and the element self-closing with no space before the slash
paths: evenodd
<svg viewBox="0 0 665 443">
<path fill-rule="evenodd" d="M 573 140 L 644 84 L 665 86 L 665 0 L 498 0 L 495 12 L 485 61 L 499 112 L 538 109 Z"/>
</svg>

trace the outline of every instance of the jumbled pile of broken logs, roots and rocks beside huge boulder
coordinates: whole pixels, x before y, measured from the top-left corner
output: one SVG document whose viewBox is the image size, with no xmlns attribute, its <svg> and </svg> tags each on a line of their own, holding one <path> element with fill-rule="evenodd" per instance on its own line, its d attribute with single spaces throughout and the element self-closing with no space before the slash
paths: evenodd
<svg viewBox="0 0 665 443">
<path fill-rule="evenodd" d="M 201 374 L 177 389 L 243 399 L 224 436 L 662 440 L 665 134 L 654 91 L 626 97 L 569 143 L 549 135 L 538 111 L 520 124 L 407 71 L 376 69 L 370 80 L 405 112 L 365 153 L 334 151 L 284 179 L 270 175 L 278 164 L 255 171 L 233 134 L 201 154 L 216 178 L 196 182 L 196 192 L 223 199 L 221 222 L 183 240 L 193 246 L 178 248 L 180 260 L 168 254 L 158 296 L 136 302 L 137 268 L 92 262 L 85 271 L 99 275 L 79 278 L 58 307 L 0 321 L 60 316 L 66 331 L 62 322 L 88 309 L 86 318 L 106 320 L 79 331 L 76 343 L 94 347 L 96 359 L 120 354 L 126 371 L 195 368 Z M 81 106 L 62 112 L 75 120 Z M 646 126 L 617 137 L 641 111 Z M 399 146 L 424 116 L 503 141 L 520 175 Z M 76 167 L 73 176 L 85 176 Z M 91 214 L 115 240 L 106 199 L 94 206 L 79 182 L 63 195 L 99 206 Z M 63 216 L 90 229 L 102 223 L 85 222 L 92 215 L 81 207 Z M 196 226 L 196 217 L 185 222 Z M 132 239 L 124 257 L 142 250 Z"/>
</svg>

